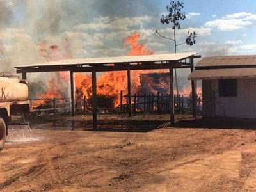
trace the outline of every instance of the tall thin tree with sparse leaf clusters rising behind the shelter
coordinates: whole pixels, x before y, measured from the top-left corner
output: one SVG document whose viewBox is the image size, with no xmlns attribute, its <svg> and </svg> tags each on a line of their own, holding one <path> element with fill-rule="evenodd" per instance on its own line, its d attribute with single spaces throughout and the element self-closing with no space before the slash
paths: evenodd
<svg viewBox="0 0 256 192">
<path fill-rule="evenodd" d="M 180 20 L 186 19 L 186 15 L 182 12 L 182 8 L 184 8 L 184 3 L 180 1 L 170 1 L 170 5 L 166 6 L 166 10 L 168 11 L 168 15 L 162 15 L 160 22 L 162 24 L 172 24 L 173 29 L 173 38 L 168 38 L 163 36 L 159 33 L 159 31 L 155 30 L 155 33 L 162 38 L 166 38 L 168 40 L 172 40 L 174 42 L 174 53 L 177 51 L 177 46 L 187 44 L 187 45 L 194 45 L 196 43 L 196 32 L 190 33 L 188 31 L 188 36 L 186 37 L 185 41 L 182 43 L 177 44 L 176 40 L 176 29 L 180 29 Z M 175 82 L 176 82 L 176 90 L 177 94 L 179 95 L 178 83 L 177 83 L 177 72 L 175 71 Z"/>
</svg>

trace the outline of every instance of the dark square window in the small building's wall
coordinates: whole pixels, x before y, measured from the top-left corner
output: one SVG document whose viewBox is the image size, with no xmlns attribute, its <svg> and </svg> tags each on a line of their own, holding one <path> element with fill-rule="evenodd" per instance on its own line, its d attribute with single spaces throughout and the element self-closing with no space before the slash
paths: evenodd
<svg viewBox="0 0 256 192">
<path fill-rule="evenodd" d="M 237 97 L 237 79 L 220 79 L 219 97 Z"/>
</svg>

